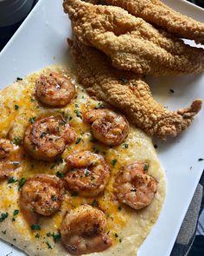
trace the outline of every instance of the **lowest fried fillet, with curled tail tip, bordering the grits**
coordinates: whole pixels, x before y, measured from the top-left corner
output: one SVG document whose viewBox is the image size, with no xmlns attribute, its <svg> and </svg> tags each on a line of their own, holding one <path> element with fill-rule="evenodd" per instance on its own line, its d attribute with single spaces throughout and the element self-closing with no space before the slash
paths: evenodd
<svg viewBox="0 0 204 256">
<path fill-rule="evenodd" d="M 109 102 L 149 135 L 162 139 L 176 136 L 186 129 L 201 109 L 201 100 L 188 108 L 168 111 L 157 103 L 150 87 L 139 75 L 113 69 L 106 56 L 97 49 L 68 40 L 80 82 L 87 91 Z"/>
</svg>

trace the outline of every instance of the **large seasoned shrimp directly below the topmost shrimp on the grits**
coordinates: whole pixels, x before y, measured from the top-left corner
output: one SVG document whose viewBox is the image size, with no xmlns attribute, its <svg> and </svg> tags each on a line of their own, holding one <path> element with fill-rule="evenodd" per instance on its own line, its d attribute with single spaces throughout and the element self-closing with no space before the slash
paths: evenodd
<svg viewBox="0 0 204 256">
<path fill-rule="evenodd" d="M 30 125 L 25 133 L 24 146 L 33 158 L 54 161 L 75 138 L 73 128 L 63 121 L 61 115 L 55 115 Z"/>
</svg>

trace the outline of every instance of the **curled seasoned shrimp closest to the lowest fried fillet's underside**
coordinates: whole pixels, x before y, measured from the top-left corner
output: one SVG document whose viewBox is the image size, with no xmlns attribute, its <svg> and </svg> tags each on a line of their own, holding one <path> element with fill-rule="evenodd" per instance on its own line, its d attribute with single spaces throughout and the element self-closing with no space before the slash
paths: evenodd
<svg viewBox="0 0 204 256">
<path fill-rule="evenodd" d="M 106 145 L 120 145 L 129 133 L 129 123 L 124 115 L 109 109 L 88 110 L 84 121 L 92 123 L 92 135 Z"/>
</svg>

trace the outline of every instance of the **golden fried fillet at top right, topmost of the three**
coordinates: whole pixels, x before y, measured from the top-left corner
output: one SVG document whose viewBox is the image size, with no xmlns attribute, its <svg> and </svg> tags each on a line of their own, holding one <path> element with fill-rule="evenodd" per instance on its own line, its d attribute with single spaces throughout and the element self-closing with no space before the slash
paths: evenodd
<svg viewBox="0 0 204 256">
<path fill-rule="evenodd" d="M 160 0 L 105 0 L 105 3 L 122 7 L 132 15 L 141 17 L 176 36 L 204 43 L 204 23 L 172 10 Z"/>
</svg>

